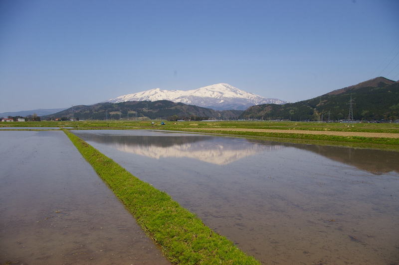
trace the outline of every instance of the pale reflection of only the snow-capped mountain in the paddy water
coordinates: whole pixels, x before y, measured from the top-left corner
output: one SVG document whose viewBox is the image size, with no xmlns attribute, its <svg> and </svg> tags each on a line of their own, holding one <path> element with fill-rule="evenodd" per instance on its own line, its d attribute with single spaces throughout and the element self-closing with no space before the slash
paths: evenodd
<svg viewBox="0 0 399 265">
<path fill-rule="evenodd" d="M 157 145 L 130 145 L 112 143 L 117 150 L 142 155 L 154 159 L 193 158 L 216 165 L 227 165 L 241 158 L 255 155 L 266 150 L 281 149 L 283 146 L 265 146 L 245 142 L 213 142 L 175 144 L 168 147 Z"/>
</svg>

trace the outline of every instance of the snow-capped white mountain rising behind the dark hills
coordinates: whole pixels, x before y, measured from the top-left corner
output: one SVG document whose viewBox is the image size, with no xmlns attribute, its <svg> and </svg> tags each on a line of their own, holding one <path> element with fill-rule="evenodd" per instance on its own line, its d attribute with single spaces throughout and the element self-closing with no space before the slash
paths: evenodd
<svg viewBox="0 0 399 265">
<path fill-rule="evenodd" d="M 265 98 L 260 95 L 245 92 L 234 88 L 228 84 L 215 84 L 203 88 L 192 90 L 166 90 L 153 88 L 150 90 L 121 95 L 111 98 L 106 102 L 126 102 L 126 101 L 144 101 L 144 100 L 170 100 L 173 102 L 182 102 L 200 107 L 207 107 L 217 110 L 224 109 L 246 109 L 249 106 L 274 103 L 284 104 L 286 101 L 277 98 Z"/>
</svg>

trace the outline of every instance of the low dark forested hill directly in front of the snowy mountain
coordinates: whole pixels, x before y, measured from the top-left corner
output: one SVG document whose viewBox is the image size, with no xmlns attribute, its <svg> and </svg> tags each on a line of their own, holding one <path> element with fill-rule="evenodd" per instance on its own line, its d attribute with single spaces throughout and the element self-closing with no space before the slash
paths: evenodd
<svg viewBox="0 0 399 265">
<path fill-rule="evenodd" d="M 97 103 L 94 105 L 77 105 L 63 111 L 43 116 L 42 119 L 68 118 L 75 119 L 120 119 L 120 118 L 163 118 L 177 119 L 235 119 L 242 110 L 216 111 L 184 103 L 175 103 L 168 100 L 158 101 L 128 101 L 121 103 Z"/>
</svg>

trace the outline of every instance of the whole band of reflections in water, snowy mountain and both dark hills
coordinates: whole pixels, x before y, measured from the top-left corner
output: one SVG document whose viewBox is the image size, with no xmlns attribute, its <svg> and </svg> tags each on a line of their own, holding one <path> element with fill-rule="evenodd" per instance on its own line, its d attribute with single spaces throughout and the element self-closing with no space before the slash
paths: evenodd
<svg viewBox="0 0 399 265">
<path fill-rule="evenodd" d="M 209 135 L 188 135 L 145 131 L 102 133 L 75 131 L 85 140 L 111 145 L 115 149 L 161 158 L 192 158 L 215 165 L 227 165 L 260 152 L 294 147 L 316 153 L 359 170 L 381 175 L 399 173 L 399 153 L 393 151 L 355 149 L 334 146 L 278 143 L 254 139 L 235 139 Z"/>
</svg>

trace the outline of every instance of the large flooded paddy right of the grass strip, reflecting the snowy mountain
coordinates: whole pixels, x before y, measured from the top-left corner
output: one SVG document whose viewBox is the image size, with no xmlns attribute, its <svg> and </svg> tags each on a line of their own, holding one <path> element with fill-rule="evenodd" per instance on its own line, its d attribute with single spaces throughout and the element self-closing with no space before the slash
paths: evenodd
<svg viewBox="0 0 399 265">
<path fill-rule="evenodd" d="M 399 153 L 73 131 L 264 264 L 399 262 Z"/>
</svg>

